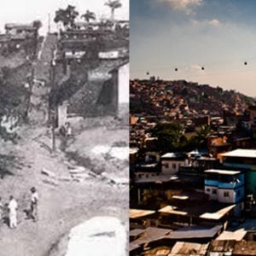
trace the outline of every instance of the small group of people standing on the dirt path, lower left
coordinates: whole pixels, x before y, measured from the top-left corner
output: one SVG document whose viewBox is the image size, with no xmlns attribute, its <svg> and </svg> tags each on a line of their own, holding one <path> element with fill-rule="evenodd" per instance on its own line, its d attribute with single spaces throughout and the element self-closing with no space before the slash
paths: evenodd
<svg viewBox="0 0 256 256">
<path fill-rule="evenodd" d="M 30 201 L 30 210 L 29 215 L 33 221 L 38 220 L 38 192 L 35 187 L 30 189 L 31 191 L 31 201 Z M 9 202 L 6 204 L 6 207 L 3 205 L 2 198 L 0 197 L 0 219 L 3 219 L 3 212 L 7 208 L 8 218 L 9 218 L 9 228 L 15 229 L 17 227 L 17 210 L 18 203 L 15 200 L 13 195 L 10 195 Z"/>
</svg>

